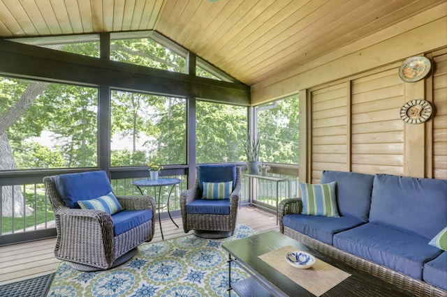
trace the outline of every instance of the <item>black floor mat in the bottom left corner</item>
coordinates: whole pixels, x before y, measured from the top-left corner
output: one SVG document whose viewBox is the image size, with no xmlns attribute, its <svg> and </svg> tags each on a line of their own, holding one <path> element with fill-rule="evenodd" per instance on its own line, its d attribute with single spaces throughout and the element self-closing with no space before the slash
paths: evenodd
<svg viewBox="0 0 447 297">
<path fill-rule="evenodd" d="M 50 289 L 54 273 L 0 286 L 0 296 L 44 297 Z"/>
</svg>

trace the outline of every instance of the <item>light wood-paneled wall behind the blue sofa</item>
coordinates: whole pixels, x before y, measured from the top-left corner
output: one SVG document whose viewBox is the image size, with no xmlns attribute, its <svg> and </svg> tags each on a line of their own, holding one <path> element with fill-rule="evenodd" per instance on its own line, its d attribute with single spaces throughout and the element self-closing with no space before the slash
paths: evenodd
<svg viewBox="0 0 447 297">
<path fill-rule="evenodd" d="M 447 179 L 447 48 L 427 56 L 432 72 L 419 82 L 403 82 L 395 63 L 300 91 L 307 111 L 300 179 L 318 183 L 324 169 Z M 414 99 L 434 107 L 427 122 L 400 119 Z"/>
</svg>

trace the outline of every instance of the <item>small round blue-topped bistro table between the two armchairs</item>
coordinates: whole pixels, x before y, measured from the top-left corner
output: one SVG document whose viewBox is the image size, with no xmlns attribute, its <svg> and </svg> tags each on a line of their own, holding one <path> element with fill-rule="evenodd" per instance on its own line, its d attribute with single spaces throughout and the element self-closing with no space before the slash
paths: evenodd
<svg viewBox="0 0 447 297">
<path fill-rule="evenodd" d="M 179 226 L 174 222 L 173 217 L 170 215 L 170 211 L 169 211 L 169 199 L 170 199 L 170 195 L 174 190 L 175 185 L 178 185 L 181 182 L 181 180 L 179 178 L 157 178 L 157 179 L 138 179 L 136 181 L 132 182 L 132 185 L 135 185 L 135 187 L 138 188 L 138 190 L 140 190 L 141 195 L 144 195 L 142 193 L 141 188 L 142 187 L 153 187 L 154 188 L 154 192 L 155 192 L 155 198 L 157 199 L 157 210 L 159 211 L 159 224 L 160 224 L 160 232 L 161 232 L 161 239 L 164 240 L 163 237 L 163 229 L 161 229 L 161 215 L 160 215 L 160 209 L 161 208 L 168 208 L 168 215 L 171 221 L 173 221 L 173 223 L 175 224 L 175 226 L 178 228 Z M 168 194 L 168 202 L 166 204 L 161 204 L 160 203 L 160 198 L 161 198 L 161 187 L 163 186 L 171 186 L 170 190 L 169 190 L 169 194 Z M 156 188 L 159 187 L 159 195 L 157 197 L 156 195 Z"/>
</svg>

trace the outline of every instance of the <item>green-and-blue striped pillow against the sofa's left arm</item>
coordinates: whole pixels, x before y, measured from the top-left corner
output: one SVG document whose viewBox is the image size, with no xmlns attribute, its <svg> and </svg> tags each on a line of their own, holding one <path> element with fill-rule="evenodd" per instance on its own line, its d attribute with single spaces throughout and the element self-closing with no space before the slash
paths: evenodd
<svg viewBox="0 0 447 297">
<path fill-rule="evenodd" d="M 323 215 L 339 218 L 335 185 L 337 182 L 313 185 L 300 183 L 303 215 Z"/>
</svg>

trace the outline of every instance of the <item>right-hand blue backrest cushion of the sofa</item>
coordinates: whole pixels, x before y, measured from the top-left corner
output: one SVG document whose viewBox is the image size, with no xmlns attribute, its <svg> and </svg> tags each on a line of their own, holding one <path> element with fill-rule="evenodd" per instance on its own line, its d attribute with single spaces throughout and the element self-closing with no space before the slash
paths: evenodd
<svg viewBox="0 0 447 297">
<path fill-rule="evenodd" d="M 447 226 L 447 181 L 376 174 L 369 222 L 432 239 Z"/>
</svg>

